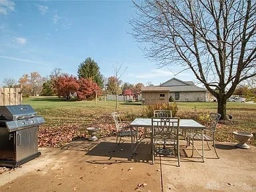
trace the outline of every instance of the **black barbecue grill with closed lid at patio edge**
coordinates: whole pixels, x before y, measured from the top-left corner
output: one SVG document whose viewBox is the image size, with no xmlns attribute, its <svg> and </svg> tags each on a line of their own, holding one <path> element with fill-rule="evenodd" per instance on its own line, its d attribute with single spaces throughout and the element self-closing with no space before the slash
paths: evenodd
<svg viewBox="0 0 256 192">
<path fill-rule="evenodd" d="M 0 106 L 0 166 L 17 167 L 41 155 L 38 129 L 44 122 L 30 105 Z"/>
</svg>

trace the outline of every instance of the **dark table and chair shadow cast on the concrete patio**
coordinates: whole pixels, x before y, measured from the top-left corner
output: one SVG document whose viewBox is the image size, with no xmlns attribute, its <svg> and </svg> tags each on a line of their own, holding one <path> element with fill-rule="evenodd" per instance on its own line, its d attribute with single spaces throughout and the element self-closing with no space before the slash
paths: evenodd
<svg viewBox="0 0 256 192">
<path fill-rule="evenodd" d="M 145 141 L 139 144 L 137 154 L 131 154 L 131 143 L 125 141 L 117 145 L 114 139 L 101 138 L 98 141 L 78 139 L 61 147 L 65 150 L 85 151 L 90 156 L 88 163 L 151 163 L 150 143 Z M 97 158 L 96 158 L 97 157 Z"/>
</svg>

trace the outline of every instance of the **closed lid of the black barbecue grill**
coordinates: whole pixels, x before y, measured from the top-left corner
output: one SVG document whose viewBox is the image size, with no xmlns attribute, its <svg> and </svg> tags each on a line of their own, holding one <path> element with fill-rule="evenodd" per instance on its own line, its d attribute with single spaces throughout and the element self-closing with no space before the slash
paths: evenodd
<svg viewBox="0 0 256 192">
<path fill-rule="evenodd" d="M 17 120 L 35 117 L 37 113 L 30 105 L 8 105 L 0 106 L 0 119 Z"/>
</svg>

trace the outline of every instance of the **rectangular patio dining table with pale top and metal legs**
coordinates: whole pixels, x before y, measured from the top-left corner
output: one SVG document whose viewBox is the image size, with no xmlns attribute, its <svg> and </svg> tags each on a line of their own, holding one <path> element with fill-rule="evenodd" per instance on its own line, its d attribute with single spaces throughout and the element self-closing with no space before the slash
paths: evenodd
<svg viewBox="0 0 256 192">
<path fill-rule="evenodd" d="M 152 125 L 151 125 L 151 118 L 147 118 L 147 119 L 145 119 L 145 118 L 137 118 L 137 119 L 134 119 L 130 123 L 130 126 L 134 127 L 137 131 L 138 131 L 138 129 L 140 127 L 143 127 L 145 129 L 151 130 L 151 127 L 152 127 Z M 206 127 L 204 125 L 201 125 L 200 123 L 198 123 L 197 121 L 195 121 L 193 119 L 180 119 L 180 121 L 179 121 L 179 129 L 183 129 L 185 131 L 193 130 L 193 131 L 195 131 L 195 133 L 197 133 L 198 131 L 201 131 L 201 134 L 203 134 L 203 130 L 206 129 Z M 136 152 L 139 143 L 144 138 L 137 139 L 137 143 L 135 145 L 135 148 L 133 149 L 133 153 Z M 202 139 L 202 153 L 200 154 L 199 151 L 197 150 L 197 148 L 195 148 L 195 149 L 196 149 L 197 153 L 202 157 L 203 162 L 205 162 L 203 139 Z"/>
</svg>

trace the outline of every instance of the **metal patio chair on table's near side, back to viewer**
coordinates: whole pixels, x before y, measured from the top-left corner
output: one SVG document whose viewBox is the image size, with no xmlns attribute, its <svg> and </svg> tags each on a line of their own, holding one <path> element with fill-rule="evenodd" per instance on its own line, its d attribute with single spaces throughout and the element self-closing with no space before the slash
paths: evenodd
<svg viewBox="0 0 256 192">
<path fill-rule="evenodd" d="M 152 117 L 151 118 L 152 163 L 155 153 L 160 155 L 175 155 L 180 166 L 179 154 L 179 118 Z"/>
</svg>

